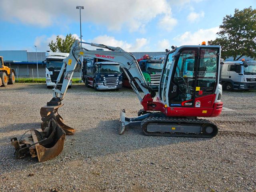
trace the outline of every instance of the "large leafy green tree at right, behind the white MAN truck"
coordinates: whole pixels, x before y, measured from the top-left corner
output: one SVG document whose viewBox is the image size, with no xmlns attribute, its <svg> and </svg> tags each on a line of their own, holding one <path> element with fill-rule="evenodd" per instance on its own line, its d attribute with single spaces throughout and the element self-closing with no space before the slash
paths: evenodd
<svg viewBox="0 0 256 192">
<path fill-rule="evenodd" d="M 209 45 L 222 46 L 222 58 L 242 56 L 256 58 L 256 9 L 235 9 L 234 16 L 226 15 L 220 25 L 220 37 L 208 41 Z"/>
</svg>

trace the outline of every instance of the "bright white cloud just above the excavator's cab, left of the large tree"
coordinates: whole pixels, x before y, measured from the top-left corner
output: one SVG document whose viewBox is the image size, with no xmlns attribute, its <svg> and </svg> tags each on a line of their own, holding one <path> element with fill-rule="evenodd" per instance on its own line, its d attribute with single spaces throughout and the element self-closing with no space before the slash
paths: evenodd
<svg viewBox="0 0 256 192">
<path fill-rule="evenodd" d="M 184 34 L 176 36 L 173 40 L 178 43 L 178 46 L 181 45 L 198 45 L 202 41 L 214 40 L 219 31 L 219 27 L 209 28 L 209 29 L 200 29 L 194 33 L 187 31 Z"/>
</svg>

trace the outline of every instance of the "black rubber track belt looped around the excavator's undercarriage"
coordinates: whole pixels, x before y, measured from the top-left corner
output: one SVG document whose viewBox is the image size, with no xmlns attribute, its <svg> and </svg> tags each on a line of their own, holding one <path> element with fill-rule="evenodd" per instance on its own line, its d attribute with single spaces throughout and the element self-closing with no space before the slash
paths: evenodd
<svg viewBox="0 0 256 192">
<path fill-rule="evenodd" d="M 193 123 L 193 124 L 200 124 L 200 125 L 207 125 L 210 124 L 213 127 L 215 127 L 215 130 L 212 132 L 212 134 L 207 134 L 207 133 L 200 133 L 200 134 L 194 134 L 194 133 L 190 133 L 190 134 L 186 134 L 186 133 L 161 133 L 161 132 L 148 132 L 147 131 L 147 125 L 149 123 L 152 122 L 169 122 L 169 123 Z M 189 119 L 189 118 L 175 118 L 175 117 L 148 117 L 146 119 L 144 119 L 141 122 L 141 128 L 142 128 L 142 132 L 143 134 L 147 135 L 147 136 L 168 136 L 168 137 L 197 137 L 197 138 L 212 138 L 214 136 L 217 135 L 218 133 L 218 127 L 208 121 L 208 120 L 204 120 L 204 119 Z"/>
</svg>

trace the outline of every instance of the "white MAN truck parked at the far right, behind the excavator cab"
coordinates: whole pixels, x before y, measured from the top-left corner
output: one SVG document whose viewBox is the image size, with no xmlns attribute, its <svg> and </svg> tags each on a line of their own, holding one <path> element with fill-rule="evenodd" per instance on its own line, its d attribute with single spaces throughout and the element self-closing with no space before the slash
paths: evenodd
<svg viewBox="0 0 256 192">
<path fill-rule="evenodd" d="M 256 61 L 226 61 L 220 67 L 223 90 L 256 89 Z"/>
</svg>

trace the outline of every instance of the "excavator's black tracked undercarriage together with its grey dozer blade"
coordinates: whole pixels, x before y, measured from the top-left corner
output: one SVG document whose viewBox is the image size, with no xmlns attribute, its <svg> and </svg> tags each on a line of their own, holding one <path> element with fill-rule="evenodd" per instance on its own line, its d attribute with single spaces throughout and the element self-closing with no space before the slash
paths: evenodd
<svg viewBox="0 0 256 192">
<path fill-rule="evenodd" d="M 125 110 L 120 114 L 119 134 L 128 126 L 140 126 L 147 136 L 198 137 L 212 138 L 217 135 L 218 127 L 196 117 L 168 117 L 161 112 L 140 110 L 137 118 L 126 118 Z"/>
</svg>

